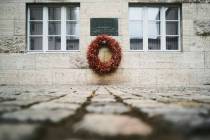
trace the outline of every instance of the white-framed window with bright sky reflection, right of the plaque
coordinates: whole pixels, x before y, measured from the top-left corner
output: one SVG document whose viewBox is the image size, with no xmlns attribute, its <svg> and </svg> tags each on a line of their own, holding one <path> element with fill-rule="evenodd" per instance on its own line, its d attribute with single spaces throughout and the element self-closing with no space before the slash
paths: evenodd
<svg viewBox="0 0 210 140">
<path fill-rule="evenodd" d="M 130 6 L 130 50 L 180 50 L 178 6 Z"/>
</svg>

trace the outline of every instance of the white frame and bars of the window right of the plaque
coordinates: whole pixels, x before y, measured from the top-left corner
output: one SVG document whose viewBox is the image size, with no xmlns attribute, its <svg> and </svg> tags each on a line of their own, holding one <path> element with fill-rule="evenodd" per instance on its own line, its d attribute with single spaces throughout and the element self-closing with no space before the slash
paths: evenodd
<svg viewBox="0 0 210 140">
<path fill-rule="evenodd" d="M 181 46 L 181 38 L 182 38 L 182 33 L 181 33 L 181 5 L 178 4 L 133 4 L 129 3 L 129 9 L 132 7 L 141 7 L 142 8 L 142 28 L 143 28 L 143 49 L 131 49 L 131 43 L 130 43 L 130 29 L 129 29 L 129 51 L 131 52 L 180 52 L 182 49 Z M 147 9 L 148 8 L 160 8 L 160 37 L 161 37 L 161 42 L 160 42 L 160 50 L 150 50 L 148 47 L 148 24 L 149 24 L 149 19 L 147 18 Z M 166 20 L 165 12 L 164 9 L 169 8 L 169 7 L 176 7 L 178 8 L 178 20 Z M 128 12 L 128 25 L 132 20 L 130 19 L 130 13 Z M 178 49 L 177 50 L 167 50 L 166 49 L 166 21 L 177 21 L 178 22 L 178 35 L 172 35 L 172 36 L 178 36 Z"/>
</svg>

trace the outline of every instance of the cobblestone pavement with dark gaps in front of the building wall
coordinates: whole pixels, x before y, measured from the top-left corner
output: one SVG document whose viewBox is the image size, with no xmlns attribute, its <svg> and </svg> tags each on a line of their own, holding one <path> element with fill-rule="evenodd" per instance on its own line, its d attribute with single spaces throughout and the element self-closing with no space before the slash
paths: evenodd
<svg viewBox="0 0 210 140">
<path fill-rule="evenodd" d="M 0 86 L 0 140 L 209 140 L 210 87 Z"/>
</svg>

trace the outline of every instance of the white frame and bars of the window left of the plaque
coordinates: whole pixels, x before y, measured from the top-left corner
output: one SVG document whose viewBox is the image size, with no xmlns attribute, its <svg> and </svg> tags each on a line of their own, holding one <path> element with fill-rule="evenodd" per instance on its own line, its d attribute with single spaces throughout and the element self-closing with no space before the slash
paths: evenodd
<svg viewBox="0 0 210 140">
<path fill-rule="evenodd" d="M 42 7 L 43 9 L 43 12 L 42 12 L 42 35 L 38 35 L 40 37 L 42 37 L 42 50 L 31 50 L 30 49 L 30 37 L 31 36 L 37 36 L 37 35 L 30 35 L 30 23 L 31 23 L 31 20 L 30 20 L 30 8 L 31 7 Z M 49 21 L 52 21 L 52 20 L 48 20 L 48 8 L 49 7 L 60 7 L 61 8 L 61 19 L 60 19 L 60 23 L 61 23 L 61 33 L 60 35 L 49 35 Z M 79 39 L 79 46 L 78 46 L 78 49 L 77 50 L 67 50 L 67 46 L 66 46 L 66 37 L 69 36 L 67 35 L 67 31 L 66 31 L 66 26 L 67 26 L 67 19 L 66 19 L 66 15 L 67 15 L 67 8 L 68 7 L 78 7 L 79 8 L 79 16 L 78 16 L 78 19 L 74 20 L 79 28 L 78 28 L 78 36 L 75 34 L 74 36 L 78 37 Z M 68 5 L 65 5 L 65 4 L 36 4 L 36 5 L 27 5 L 27 52 L 28 53 L 68 53 L 68 52 L 79 52 L 81 51 L 81 43 L 80 43 L 80 4 L 68 4 Z M 35 21 L 35 20 L 34 20 Z M 56 20 L 53 20 L 53 21 L 56 21 Z M 60 36 L 61 37 L 61 49 L 60 50 L 49 50 L 48 49 L 48 37 L 49 36 Z M 73 36 L 73 35 L 72 35 Z"/>
</svg>

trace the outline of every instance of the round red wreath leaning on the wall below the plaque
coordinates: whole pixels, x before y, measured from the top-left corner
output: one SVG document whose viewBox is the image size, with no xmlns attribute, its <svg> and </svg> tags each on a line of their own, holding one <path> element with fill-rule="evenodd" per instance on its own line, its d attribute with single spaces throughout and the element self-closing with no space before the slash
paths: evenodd
<svg viewBox="0 0 210 140">
<path fill-rule="evenodd" d="M 108 47 L 112 52 L 112 57 L 109 61 L 101 62 L 98 54 L 101 47 Z M 117 69 L 121 61 L 121 48 L 119 43 L 107 35 L 99 35 L 91 42 L 88 47 L 87 59 L 89 67 L 98 74 L 113 72 Z"/>
</svg>

